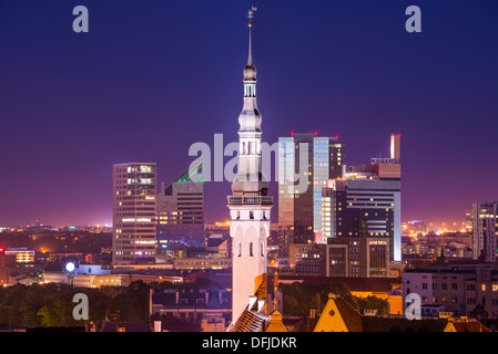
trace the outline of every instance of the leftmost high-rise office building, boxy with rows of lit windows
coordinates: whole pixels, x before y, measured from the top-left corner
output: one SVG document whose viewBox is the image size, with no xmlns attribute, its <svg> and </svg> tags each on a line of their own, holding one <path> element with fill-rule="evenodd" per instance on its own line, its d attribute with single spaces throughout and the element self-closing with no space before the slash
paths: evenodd
<svg viewBox="0 0 498 354">
<path fill-rule="evenodd" d="M 155 261 L 155 164 L 113 165 L 112 263 Z"/>
</svg>

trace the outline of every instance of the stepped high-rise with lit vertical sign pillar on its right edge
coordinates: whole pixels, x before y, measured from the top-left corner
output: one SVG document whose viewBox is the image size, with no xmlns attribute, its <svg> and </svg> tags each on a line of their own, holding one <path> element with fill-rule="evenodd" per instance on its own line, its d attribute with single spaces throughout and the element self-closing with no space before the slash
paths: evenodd
<svg viewBox="0 0 498 354">
<path fill-rule="evenodd" d="M 380 237 L 389 240 L 389 258 L 402 260 L 402 185 L 399 135 L 392 135 L 390 158 L 348 167 L 343 179 L 323 188 L 323 239 Z M 393 146 L 393 144 L 392 144 Z"/>
</svg>

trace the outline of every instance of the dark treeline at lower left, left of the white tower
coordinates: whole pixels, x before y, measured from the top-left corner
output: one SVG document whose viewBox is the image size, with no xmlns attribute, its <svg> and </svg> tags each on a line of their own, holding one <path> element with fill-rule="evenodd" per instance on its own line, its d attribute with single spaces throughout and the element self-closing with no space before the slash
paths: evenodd
<svg viewBox="0 0 498 354">
<path fill-rule="evenodd" d="M 89 299 L 89 320 L 74 320 L 77 293 Z M 148 323 L 149 287 L 75 288 L 69 284 L 16 284 L 0 288 L 0 323 L 12 326 L 82 326 L 100 330 L 104 321 Z"/>
</svg>

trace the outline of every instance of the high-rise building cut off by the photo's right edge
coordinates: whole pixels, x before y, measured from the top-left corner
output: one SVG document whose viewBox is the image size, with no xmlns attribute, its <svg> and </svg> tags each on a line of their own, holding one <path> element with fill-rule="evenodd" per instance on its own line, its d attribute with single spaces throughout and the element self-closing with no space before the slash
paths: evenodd
<svg viewBox="0 0 498 354">
<path fill-rule="evenodd" d="M 498 201 L 472 205 L 472 258 L 496 262 L 498 249 Z"/>
</svg>

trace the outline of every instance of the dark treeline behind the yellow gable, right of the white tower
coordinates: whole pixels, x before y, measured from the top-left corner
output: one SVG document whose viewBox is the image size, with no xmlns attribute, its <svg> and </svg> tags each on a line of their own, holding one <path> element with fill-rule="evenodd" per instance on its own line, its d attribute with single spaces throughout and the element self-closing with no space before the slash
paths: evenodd
<svg viewBox="0 0 498 354">
<path fill-rule="evenodd" d="M 317 310 L 321 313 L 328 301 L 329 293 L 339 295 L 358 312 L 377 310 L 379 315 L 385 315 L 388 311 L 387 300 L 377 296 L 354 296 L 345 283 L 295 282 L 293 284 L 280 284 L 278 287 L 284 295 L 284 313 L 307 315 L 311 310 Z"/>
</svg>

